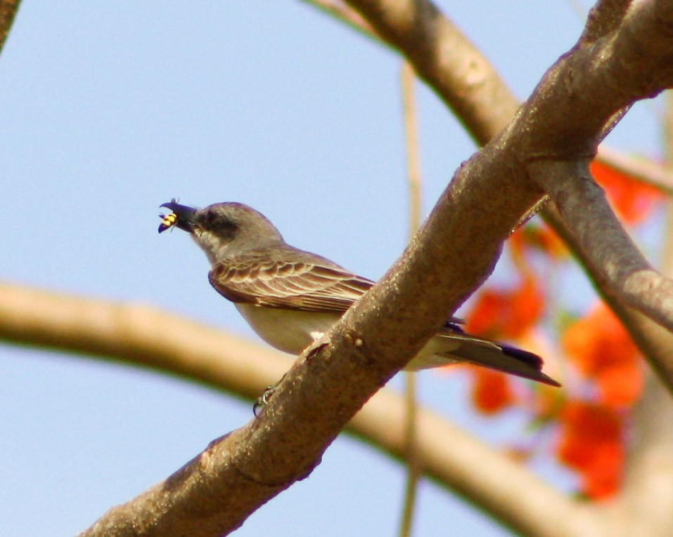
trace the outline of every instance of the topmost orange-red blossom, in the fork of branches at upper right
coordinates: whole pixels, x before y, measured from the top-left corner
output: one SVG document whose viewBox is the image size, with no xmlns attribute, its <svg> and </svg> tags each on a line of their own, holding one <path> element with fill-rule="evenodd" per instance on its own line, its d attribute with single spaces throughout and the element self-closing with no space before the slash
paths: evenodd
<svg viewBox="0 0 673 537">
<path fill-rule="evenodd" d="M 605 189 L 617 214 L 627 224 L 640 223 L 648 216 L 655 203 L 662 199 L 661 192 L 655 187 L 641 183 L 603 162 L 593 161 L 591 173 Z"/>
</svg>

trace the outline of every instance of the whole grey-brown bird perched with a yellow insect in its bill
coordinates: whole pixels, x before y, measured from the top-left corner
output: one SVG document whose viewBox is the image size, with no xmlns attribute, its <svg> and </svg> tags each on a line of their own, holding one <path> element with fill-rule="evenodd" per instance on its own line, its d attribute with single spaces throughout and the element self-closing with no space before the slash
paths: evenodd
<svg viewBox="0 0 673 537">
<path fill-rule="evenodd" d="M 197 209 L 174 199 L 162 207 L 159 232 L 173 226 L 205 252 L 215 291 L 231 300 L 257 335 L 272 347 L 301 354 L 374 284 L 331 260 L 283 240 L 269 220 L 247 205 Z M 525 350 L 470 336 L 450 319 L 411 359 L 409 371 L 467 362 L 552 386 L 542 359 Z"/>
</svg>

